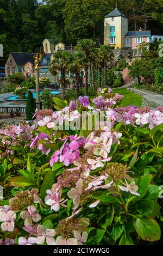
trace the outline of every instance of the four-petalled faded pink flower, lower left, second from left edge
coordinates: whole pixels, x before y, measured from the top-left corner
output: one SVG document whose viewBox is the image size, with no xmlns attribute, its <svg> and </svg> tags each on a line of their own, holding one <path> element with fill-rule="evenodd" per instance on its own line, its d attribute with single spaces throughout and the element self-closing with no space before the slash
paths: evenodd
<svg viewBox="0 0 163 256">
<path fill-rule="evenodd" d="M 36 214 L 36 208 L 34 205 L 30 205 L 27 208 L 27 211 L 21 212 L 21 217 L 24 221 L 24 224 L 31 225 L 32 222 L 39 222 L 41 220 L 40 214 Z"/>
</svg>

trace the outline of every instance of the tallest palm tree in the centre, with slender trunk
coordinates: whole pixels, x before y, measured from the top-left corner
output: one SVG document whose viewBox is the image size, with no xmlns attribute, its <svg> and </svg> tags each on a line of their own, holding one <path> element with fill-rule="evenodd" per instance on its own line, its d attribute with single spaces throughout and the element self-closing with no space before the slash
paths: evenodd
<svg viewBox="0 0 163 256">
<path fill-rule="evenodd" d="M 86 88 L 86 95 L 89 94 L 88 92 L 88 68 L 90 66 L 91 62 L 91 54 L 93 51 L 93 48 L 95 48 L 95 42 L 93 42 L 92 39 L 81 39 L 78 40 L 77 45 L 75 49 L 79 52 L 84 53 L 84 70 L 85 70 L 85 88 Z"/>
</svg>

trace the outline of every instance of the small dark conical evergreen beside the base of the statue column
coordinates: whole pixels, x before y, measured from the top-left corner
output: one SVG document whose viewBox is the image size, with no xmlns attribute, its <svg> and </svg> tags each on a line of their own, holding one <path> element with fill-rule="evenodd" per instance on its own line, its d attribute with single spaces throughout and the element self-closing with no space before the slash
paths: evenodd
<svg viewBox="0 0 163 256">
<path fill-rule="evenodd" d="M 26 101 L 26 118 L 32 120 L 33 114 L 35 113 L 36 103 L 33 98 L 33 93 L 29 90 Z"/>
</svg>

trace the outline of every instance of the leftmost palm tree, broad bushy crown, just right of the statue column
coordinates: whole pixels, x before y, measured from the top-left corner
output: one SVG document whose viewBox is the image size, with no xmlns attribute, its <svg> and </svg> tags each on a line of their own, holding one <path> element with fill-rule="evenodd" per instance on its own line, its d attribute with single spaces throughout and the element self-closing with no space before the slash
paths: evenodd
<svg viewBox="0 0 163 256">
<path fill-rule="evenodd" d="M 51 72 L 52 74 L 61 74 L 61 93 L 62 100 L 65 100 L 66 94 L 66 72 L 68 71 L 68 66 L 72 62 L 73 55 L 67 51 L 55 52 L 52 56 L 51 61 Z"/>
</svg>

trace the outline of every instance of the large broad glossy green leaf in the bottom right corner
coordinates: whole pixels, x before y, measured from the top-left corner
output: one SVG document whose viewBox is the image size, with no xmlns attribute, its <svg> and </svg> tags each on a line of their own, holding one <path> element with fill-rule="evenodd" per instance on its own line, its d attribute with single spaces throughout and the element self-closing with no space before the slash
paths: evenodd
<svg viewBox="0 0 163 256">
<path fill-rule="evenodd" d="M 141 239 L 154 242 L 160 239 L 161 230 L 154 218 L 139 217 L 134 221 L 134 227 Z"/>
</svg>

